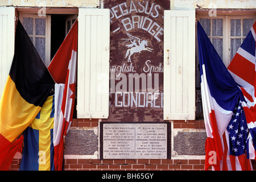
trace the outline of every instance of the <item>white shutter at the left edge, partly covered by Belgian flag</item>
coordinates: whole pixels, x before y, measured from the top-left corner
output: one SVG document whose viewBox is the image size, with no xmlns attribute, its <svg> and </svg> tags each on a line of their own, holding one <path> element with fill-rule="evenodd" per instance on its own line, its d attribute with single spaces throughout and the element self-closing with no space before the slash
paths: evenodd
<svg viewBox="0 0 256 182">
<path fill-rule="evenodd" d="M 0 7 L 0 98 L 14 55 L 15 8 Z"/>
</svg>

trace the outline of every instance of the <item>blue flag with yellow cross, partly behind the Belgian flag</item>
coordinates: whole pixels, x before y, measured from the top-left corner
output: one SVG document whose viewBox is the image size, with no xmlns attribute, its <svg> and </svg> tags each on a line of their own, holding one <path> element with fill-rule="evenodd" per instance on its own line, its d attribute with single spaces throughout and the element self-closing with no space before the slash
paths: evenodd
<svg viewBox="0 0 256 182">
<path fill-rule="evenodd" d="M 24 149 L 20 171 L 53 171 L 54 96 L 49 96 L 42 109 L 24 131 Z"/>
</svg>

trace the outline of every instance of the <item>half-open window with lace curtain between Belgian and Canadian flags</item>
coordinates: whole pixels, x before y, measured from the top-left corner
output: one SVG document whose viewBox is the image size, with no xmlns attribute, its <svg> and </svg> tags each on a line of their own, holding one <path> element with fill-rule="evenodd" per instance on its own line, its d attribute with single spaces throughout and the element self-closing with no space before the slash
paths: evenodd
<svg viewBox="0 0 256 182">
<path fill-rule="evenodd" d="M 51 62 L 76 18 L 77 15 L 65 14 L 19 14 L 20 22 L 46 66 Z"/>
</svg>

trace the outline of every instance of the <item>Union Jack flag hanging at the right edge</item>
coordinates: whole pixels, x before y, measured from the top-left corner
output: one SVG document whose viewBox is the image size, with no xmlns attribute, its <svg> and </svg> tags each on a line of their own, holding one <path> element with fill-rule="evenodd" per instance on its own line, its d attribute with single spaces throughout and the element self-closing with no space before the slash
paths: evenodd
<svg viewBox="0 0 256 182">
<path fill-rule="evenodd" d="M 248 129 L 247 157 L 255 159 L 256 145 L 256 93 L 255 93 L 255 32 L 256 22 L 251 27 L 241 47 L 231 61 L 228 71 L 240 85 L 245 101 L 242 102 Z"/>
</svg>

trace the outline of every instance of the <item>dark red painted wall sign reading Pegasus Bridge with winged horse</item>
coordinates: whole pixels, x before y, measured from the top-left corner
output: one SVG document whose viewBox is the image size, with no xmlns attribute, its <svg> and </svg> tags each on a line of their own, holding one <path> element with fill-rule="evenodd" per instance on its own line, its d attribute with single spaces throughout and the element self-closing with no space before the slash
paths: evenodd
<svg viewBox="0 0 256 182">
<path fill-rule="evenodd" d="M 110 9 L 106 121 L 163 121 L 163 34 L 168 0 L 105 0 Z"/>
</svg>

